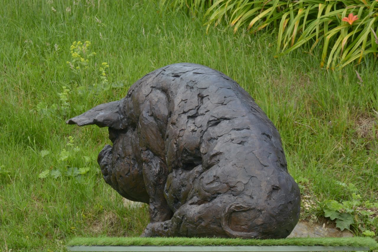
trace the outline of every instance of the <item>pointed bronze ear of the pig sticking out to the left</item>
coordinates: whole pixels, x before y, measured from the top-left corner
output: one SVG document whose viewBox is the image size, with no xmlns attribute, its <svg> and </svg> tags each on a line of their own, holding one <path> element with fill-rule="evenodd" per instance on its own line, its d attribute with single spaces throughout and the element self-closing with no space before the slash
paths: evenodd
<svg viewBox="0 0 378 252">
<path fill-rule="evenodd" d="M 113 129 L 125 128 L 125 115 L 122 113 L 122 100 L 100 104 L 87 112 L 66 121 L 67 124 L 84 126 L 96 124 L 99 127 Z"/>
</svg>

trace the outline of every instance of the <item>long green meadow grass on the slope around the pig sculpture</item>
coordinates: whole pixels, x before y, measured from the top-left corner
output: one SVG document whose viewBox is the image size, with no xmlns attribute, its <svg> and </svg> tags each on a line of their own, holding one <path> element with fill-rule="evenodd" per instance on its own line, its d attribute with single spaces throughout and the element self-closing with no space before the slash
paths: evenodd
<svg viewBox="0 0 378 252">
<path fill-rule="evenodd" d="M 121 99 L 137 79 L 175 62 L 207 65 L 246 89 L 278 128 L 290 173 L 308 179 L 305 191 L 320 205 L 350 198 L 335 180 L 353 183 L 365 200 L 377 200 L 378 150 L 367 148 L 378 144 L 376 132 L 370 127 L 359 135 L 361 120 L 370 126 L 377 121 L 375 61 L 328 73 L 318 67 L 319 57 L 302 51 L 274 59 L 276 36 L 270 32 L 234 35 L 218 26 L 206 35 L 201 20 L 162 14 L 152 1 L 50 2 L 0 5 L 0 250 L 59 251 L 78 235 L 142 232 L 147 208 L 123 207 L 99 172 L 96 156 L 109 143 L 107 129 L 78 128 L 65 120 Z M 71 70 L 66 63 L 78 40 L 89 40 L 97 54 L 88 70 Z M 101 86 L 102 62 L 109 64 L 113 87 L 93 92 L 93 84 Z M 62 86 L 71 90 L 67 109 L 59 100 Z M 75 167 L 90 170 L 65 175 Z M 40 179 L 45 170 L 62 176 Z M 321 214 L 303 213 L 302 218 Z"/>
</svg>

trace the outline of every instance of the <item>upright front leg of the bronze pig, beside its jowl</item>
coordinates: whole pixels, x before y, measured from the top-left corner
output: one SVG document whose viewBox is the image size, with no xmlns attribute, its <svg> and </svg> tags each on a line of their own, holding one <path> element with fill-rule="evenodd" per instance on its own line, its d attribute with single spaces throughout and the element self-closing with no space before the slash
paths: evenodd
<svg viewBox="0 0 378 252">
<path fill-rule="evenodd" d="M 168 169 L 166 164 L 151 151 L 143 151 L 143 177 L 146 190 L 150 196 L 150 222 L 162 222 L 172 217 L 166 199 L 164 185 L 166 184 Z"/>
</svg>

